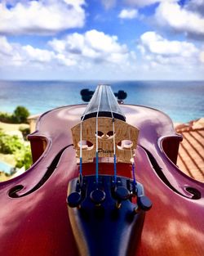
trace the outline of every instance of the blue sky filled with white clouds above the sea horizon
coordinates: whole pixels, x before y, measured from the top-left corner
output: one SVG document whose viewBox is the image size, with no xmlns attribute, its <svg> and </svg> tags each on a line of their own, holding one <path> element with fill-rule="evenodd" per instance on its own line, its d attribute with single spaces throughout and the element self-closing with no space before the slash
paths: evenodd
<svg viewBox="0 0 204 256">
<path fill-rule="evenodd" d="M 0 0 L 0 79 L 204 80 L 204 0 Z"/>
</svg>

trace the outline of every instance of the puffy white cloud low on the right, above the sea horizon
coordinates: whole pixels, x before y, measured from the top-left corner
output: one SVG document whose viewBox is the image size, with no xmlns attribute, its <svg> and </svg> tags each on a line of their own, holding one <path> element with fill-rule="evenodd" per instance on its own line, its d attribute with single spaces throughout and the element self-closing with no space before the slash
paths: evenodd
<svg viewBox="0 0 204 256">
<path fill-rule="evenodd" d="M 196 69 L 196 66 L 202 65 L 202 51 L 193 43 L 170 41 L 153 31 L 141 35 L 138 48 L 144 60 L 152 67 L 166 65 L 171 66 L 172 70 L 175 66 Z"/>
</svg>

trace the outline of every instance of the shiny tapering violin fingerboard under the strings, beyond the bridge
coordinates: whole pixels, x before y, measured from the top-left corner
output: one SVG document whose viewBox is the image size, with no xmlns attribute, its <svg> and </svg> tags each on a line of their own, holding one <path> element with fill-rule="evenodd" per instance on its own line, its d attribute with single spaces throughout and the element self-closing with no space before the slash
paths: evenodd
<svg viewBox="0 0 204 256">
<path fill-rule="evenodd" d="M 92 117 L 114 117 L 116 119 L 126 120 L 113 91 L 109 85 L 100 84 L 95 90 L 90 103 L 82 115 L 82 119 Z"/>
</svg>

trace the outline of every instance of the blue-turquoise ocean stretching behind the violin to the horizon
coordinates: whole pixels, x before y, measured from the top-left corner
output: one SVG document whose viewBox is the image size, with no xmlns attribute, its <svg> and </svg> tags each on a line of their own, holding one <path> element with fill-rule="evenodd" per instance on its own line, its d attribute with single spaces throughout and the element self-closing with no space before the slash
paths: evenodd
<svg viewBox="0 0 204 256">
<path fill-rule="evenodd" d="M 31 115 L 59 106 L 82 104 L 80 91 L 100 81 L 0 81 L 0 111 L 25 106 Z M 113 92 L 124 90 L 126 104 L 162 110 L 175 123 L 204 116 L 204 81 L 103 81 Z"/>
</svg>

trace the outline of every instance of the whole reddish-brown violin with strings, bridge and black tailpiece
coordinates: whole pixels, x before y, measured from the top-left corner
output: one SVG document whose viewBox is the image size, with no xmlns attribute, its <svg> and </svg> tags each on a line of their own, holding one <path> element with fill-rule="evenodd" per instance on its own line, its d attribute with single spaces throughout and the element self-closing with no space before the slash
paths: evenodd
<svg viewBox="0 0 204 256">
<path fill-rule="evenodd" d="M 204 255 L 204 186 L 176 166 L 182 137 L 161 111 L 99 85 L 29 141 L 33 165 L 0 183 L 0 255 Z"/>
</svg>

